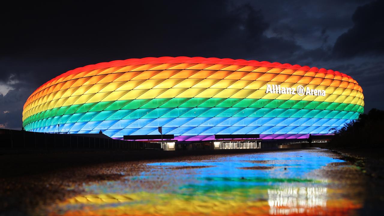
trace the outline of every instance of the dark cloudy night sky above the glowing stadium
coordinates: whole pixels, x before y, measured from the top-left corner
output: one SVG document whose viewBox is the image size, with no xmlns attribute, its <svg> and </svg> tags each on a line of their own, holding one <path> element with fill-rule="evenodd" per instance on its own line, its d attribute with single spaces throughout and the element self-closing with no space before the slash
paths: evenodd
<svg viewBox="0 0 384 216">
<path fill-rule="evenodd" d="M 384 109 L 384 1 L 2 3 L 0 128 L 40 85 L 89 64 L 203 56 L 338 70 Z"/>
</svg>

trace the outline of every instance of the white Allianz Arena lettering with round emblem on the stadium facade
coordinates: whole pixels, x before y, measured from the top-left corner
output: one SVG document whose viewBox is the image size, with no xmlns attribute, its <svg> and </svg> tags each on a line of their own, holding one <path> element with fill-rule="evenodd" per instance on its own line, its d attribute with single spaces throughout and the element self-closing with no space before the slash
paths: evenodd
<svg viewBox="0 0 384 216">
<path fill-rule="evenodd" d="M 296 88 L 289 88 L 289 87 L 281 87 L 280 85 L 266 85 L 266 91 L 265 93 L 273 93 L 273 94 L 285 94 L 285 95 L 296 95 L 299 96 L 303 95 L 313 95 L 313 96 L 325 96 L 325 90 L 319 90 L 319 89 L 311 89 L 309 87 L 304 88 L 303 86 L 299 85 Z"/>
</svg>

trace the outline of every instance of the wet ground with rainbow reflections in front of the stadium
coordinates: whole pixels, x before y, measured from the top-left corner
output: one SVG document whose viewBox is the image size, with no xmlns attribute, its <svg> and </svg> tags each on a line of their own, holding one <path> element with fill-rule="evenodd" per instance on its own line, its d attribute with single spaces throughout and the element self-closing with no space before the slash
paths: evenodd
<svg viewBox="0 0 384 216">
<path fill-rule="evenodd" d="M 381 179 L 317 148 L 103 163 L 2 181 L 0 215 L 380 215 L 384 201 Z"/>
</svg>

